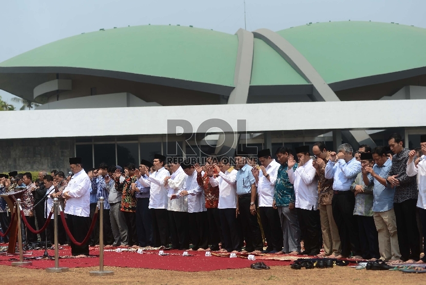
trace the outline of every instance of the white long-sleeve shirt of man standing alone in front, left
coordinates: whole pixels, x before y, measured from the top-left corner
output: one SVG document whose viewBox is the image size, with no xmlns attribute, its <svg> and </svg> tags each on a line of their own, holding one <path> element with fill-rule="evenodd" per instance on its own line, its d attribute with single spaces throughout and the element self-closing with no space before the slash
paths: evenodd
<svg viewBox="0 0 426 285">
<path fill-rule="evenodd" d="M 69 181 L 64 193 L 71 197 L 67 200 L 64 213 L 88 217 L 90 214 L 90 178 L 82 169 L 75 173 Z"/>
</svg>

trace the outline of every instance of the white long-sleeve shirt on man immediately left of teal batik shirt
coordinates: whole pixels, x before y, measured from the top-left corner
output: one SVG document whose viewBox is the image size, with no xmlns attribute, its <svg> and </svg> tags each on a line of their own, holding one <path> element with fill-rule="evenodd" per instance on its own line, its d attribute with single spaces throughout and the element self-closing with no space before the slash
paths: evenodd
<svg viewBox="0 0 426 285">
<path fill-rule="evenodd" d="M 269 180 L 259 171 L 259 182 L 257 193 L 259 195 L 259 207 L 272 207 L 275 193 L 275 181 L 277 180 L 278 168 L 280 164 L 273 159 L 266 167 L 266 173 L 269 174 Z"/>
</svg>

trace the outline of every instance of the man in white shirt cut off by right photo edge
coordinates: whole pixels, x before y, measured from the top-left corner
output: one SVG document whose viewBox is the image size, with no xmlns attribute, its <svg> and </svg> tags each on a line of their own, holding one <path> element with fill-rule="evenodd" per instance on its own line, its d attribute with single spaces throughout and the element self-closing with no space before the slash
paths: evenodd
<svg viewBox="0 0 426 285">
<path fill-rule="evenodd" d="M 407 175 L 417 175 L 417 184 L 419 188 L 417 208 L 420 214 L 423 238 L 426 238 L 426 135 L 420 136 L 420 152 L 422 155 L 414 159 L 416 151 L 410 151 L 407 161 Z M 423 241 L 423 252 L 426 252 L 426 240 Z M 426 255 L 420 258 L 416 263 L 426 263 Z"/>
</svg>

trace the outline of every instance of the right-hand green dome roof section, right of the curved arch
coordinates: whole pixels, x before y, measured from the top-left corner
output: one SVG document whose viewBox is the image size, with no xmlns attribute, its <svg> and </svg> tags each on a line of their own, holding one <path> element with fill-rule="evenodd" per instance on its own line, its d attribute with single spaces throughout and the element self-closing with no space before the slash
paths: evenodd
<svg viewBox="0 0 426 285">
<path fill-rule="evenodd" d="M 377 22 L 327 22 L 277 32 L 326 83 L 426 66 L 426 29 Z"/>
</svg>

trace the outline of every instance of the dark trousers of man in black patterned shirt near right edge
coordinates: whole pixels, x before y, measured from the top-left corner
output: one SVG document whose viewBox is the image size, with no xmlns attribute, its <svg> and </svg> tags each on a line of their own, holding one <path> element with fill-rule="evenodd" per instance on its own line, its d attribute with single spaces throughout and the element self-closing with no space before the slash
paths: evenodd
<svg viewBox="0 0 426 285">
<path fill-rule="evenodd" d="M 420 259 L 419 229 L 416 217 L 417 199 L 394 203 L 396 228 L 398 230 L 401 260 Z"/>
</svg>

